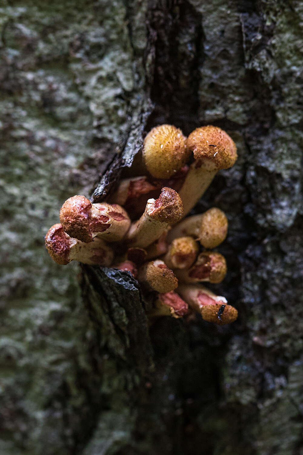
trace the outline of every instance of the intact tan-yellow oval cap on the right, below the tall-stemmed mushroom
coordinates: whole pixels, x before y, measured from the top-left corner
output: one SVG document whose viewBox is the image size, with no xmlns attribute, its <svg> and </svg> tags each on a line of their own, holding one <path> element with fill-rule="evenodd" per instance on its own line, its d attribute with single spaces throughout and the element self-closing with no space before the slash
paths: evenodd
<svg viewBox="0 0 303 455">
<path fill-rule="evenodd" d="M 224 212 L 213 207 L 201 217 L 199 242 L 204 248 L 216 248 L 222 243 L 228 230 L 228 220 Z"/>
</svg>

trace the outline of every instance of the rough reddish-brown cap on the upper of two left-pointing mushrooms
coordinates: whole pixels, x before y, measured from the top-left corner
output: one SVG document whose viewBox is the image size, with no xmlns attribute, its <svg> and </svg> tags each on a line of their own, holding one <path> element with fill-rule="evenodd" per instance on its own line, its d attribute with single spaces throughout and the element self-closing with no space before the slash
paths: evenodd
<svg viewBox="0 0 303 455">
<path fill-rule="evenodd" d="M 93 237 L 89 230 L 89 215 L 92 204 L 85 196 L 73 196 L 60 209 L 60 222 L 70 237 L 89 243 Z"/>
</svg>

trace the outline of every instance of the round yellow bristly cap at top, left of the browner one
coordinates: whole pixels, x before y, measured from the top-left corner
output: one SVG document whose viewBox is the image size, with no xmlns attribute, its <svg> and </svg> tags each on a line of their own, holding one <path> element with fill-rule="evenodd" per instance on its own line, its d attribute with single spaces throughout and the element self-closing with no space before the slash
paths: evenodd
<svg viewBox="0 0 303 455">
<path fill-rule="evenodd" d="M 143 158 L 153 177 L 173 176 L 186 164 L 189 156 L 186 137 L 173 125 L 155 126 L 145 137 Z"/>
</svg>

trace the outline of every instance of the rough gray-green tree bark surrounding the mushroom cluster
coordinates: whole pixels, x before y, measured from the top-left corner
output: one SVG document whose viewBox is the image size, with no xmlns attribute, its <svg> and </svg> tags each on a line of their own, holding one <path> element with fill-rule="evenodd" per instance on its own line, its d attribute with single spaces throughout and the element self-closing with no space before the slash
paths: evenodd
<svg viewBox="0 0 303 455">
<path fill-rule="evenodd" d="M 2 0 L 0 26 L 0 454 L 302 455 L 302 2 Z M 163 122 L 237 142 L 197 207 L 229 219 L 230 327 L 149 331 L 127 273 L 44 248 Z"/>
</svg>

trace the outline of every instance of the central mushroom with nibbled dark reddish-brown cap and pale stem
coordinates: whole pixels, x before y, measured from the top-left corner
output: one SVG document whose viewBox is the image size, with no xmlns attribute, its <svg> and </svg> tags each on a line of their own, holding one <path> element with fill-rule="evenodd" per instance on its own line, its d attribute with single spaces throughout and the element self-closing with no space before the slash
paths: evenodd
<svg viewBox="0 0 303 455">
<path fill-rule="evenodd" d="M 149 199 L 144 214 L 129 229 L 127 238 L 132 247 L 145 248 L 161 237 L 168 224 L 183 216 L 183 204 L 171 188 L 162 188 L 158 199 Z"/>
</svg>

